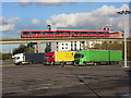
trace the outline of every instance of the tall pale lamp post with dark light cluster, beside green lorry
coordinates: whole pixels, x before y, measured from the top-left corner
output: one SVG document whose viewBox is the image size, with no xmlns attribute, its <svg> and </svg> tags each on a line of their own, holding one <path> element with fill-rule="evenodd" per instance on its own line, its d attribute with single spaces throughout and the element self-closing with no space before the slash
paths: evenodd
<svg viewBox="0 0 131 98">
<path fill-rule="evenodd" d="M 124 37 L 124 66 L 123 68 L 129 68 L 128 65 L 127 65 L 127 38 L 126 38 L 126 15 L 127 14 L 130 14 L 131 13 L 131 11 L 119 11 L 119 12 L 117 12 L 118 14 L 123 14 L 124 15 L 124 35 L 123 35 L 123 37 Z"/>
</svg>

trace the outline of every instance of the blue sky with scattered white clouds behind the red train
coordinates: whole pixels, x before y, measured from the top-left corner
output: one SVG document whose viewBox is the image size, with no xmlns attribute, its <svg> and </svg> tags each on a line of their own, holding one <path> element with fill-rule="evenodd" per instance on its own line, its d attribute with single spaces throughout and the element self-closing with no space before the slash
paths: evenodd
<svg viewBox="0 0 131 98">
<path fill-rule="evenodd" d="M 103 26 L 111 26 L 112 30 L 122 30 L 124 27 L 123 15 L 118 11 L 129 10 L 129 2 L 2 2 L 0 4 L 1 38 L 20 38 L 25 29 L 47 29 L 51 24 L 57 29 L 102 29 Z M 129 19 L 127 15 L 128 27 Z M 2 45 L 3 52 L 17 45 Z M 7 48 L 10 47 L 10 48 Z M 45 46 L 44 46 L 45 47 Z M 41 47 L 43 50 L 43 47 Z"/>
</svg>

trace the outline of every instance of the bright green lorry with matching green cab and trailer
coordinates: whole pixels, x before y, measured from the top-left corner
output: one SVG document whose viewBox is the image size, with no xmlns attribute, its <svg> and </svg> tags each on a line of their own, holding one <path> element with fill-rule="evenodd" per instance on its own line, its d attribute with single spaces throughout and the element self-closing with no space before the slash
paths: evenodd
<svg viewBox="0 0 131 98">
<path fill-rule="evenodd" d="M 76 51 L 74 54 L 74 65 L 115 64 L 120 61 L 122 61 L 122 51 L 119 50 L 87 50 Z"/>
</svg>

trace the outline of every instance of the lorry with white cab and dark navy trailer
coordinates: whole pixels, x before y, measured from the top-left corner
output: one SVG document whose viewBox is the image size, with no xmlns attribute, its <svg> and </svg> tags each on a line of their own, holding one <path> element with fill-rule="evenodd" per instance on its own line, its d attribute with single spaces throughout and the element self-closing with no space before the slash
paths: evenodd
<svg viewBox="0 0 131 98">
<path fill-rule="evenodd" d="M 15 65 L 44 62 L 44 53 L 17 53 L 12 58 L 14 58 Z"/>
</svg>

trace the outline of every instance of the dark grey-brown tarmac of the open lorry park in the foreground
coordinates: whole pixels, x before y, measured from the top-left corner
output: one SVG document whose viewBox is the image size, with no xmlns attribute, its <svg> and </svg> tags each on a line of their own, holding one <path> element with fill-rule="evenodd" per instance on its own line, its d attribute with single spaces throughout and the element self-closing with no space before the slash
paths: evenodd
<svg viewBox="0 0 131 98">
<path fill-rule="evenodd" d="M 115 96 L 129 98 L 129 68 L 123 65 L 4 65 L 2 96 Z"/>
</svg>

